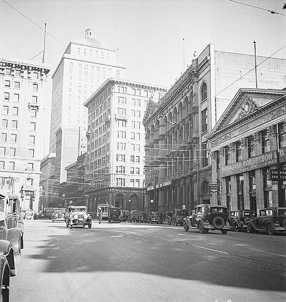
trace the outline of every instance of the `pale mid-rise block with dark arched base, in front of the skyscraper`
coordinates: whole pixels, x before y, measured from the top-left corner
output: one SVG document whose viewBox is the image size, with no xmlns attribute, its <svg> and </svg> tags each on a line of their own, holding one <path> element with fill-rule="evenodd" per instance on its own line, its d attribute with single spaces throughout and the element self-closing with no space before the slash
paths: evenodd
<svg viewBox="0 0 286 302">
<path fill-rule="evenodd" d="M 84 104 L 88 110 L 86 183 L 88 209 L 100 203 L 122 209 L 143 208 L 145 129 L 149 99 L 165 88 L 109 79 Z"/>
</svg>

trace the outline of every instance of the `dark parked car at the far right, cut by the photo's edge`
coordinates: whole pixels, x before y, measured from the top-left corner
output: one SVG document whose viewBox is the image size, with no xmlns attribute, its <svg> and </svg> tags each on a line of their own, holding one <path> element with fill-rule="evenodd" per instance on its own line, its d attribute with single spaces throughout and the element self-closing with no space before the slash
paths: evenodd
<svg viewBox="0 0 286 302">
<path fill-rule="evenodd" d="M 259 210 L 259 216 L 247 221 L 247 233 L 265 232 L 268 235 L 286 232 L 286 208 L 268 207 Z"/>
</svg>

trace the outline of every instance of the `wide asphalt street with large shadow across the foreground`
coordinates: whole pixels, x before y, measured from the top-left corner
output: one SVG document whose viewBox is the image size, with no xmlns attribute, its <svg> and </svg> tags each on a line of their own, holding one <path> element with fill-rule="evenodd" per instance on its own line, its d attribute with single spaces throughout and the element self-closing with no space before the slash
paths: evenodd
<svg viewBox="0 0 286 302">
<path fill-rule="evenodd" d="M 284 302 L 285 236 L 94 221 L 25 222 L 11 301 Z"/>
</svg>

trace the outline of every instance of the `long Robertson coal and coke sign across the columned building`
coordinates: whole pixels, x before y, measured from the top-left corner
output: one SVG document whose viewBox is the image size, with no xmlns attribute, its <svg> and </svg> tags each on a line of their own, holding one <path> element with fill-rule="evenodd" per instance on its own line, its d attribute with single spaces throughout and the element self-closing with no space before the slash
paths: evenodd
<svg viewBox="0 0 286 302">
<path fill-rule="evenodd" d="M 286 147 L 279 149 L 279 162 L 286 161 Z M 276 150 L 263 153 L 262 155 L 249 158 L 221 168 L 221 177 L 240 174 L 246 171 L 264 168 L 277 164 Z"/>
</svg>

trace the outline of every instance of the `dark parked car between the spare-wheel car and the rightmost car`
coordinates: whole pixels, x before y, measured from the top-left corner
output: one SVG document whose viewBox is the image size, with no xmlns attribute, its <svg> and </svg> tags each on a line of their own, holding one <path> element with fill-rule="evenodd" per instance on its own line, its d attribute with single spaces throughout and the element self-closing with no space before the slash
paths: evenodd
<svg viewBox="0 0 286 302">
<path fill-rule="evenodd" d="M 246 222 L 256 217 L 256 211 L 248 209 L 231 210 L 229 216 L 229 225 L 233 226 L 235 232 L 246 231 Z"/>
</svg>

